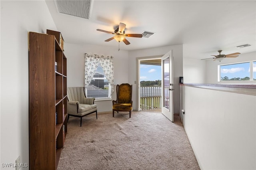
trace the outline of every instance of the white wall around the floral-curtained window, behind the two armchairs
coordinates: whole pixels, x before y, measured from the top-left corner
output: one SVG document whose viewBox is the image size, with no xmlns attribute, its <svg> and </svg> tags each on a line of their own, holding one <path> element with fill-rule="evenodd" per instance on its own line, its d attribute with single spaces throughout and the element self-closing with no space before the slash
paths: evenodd
<svg viewBox="0 0 256 170">
<path fill-rule="evenodd" d="M 65 35 L 62 36 L 65 37 Z M 84 87 L 84 53 L 112 55 L 114 57 L 114 85 L 128 83 L 130 68 L 127 51 L 118 51 L 117 49 L 96 45 L 71 43 L 65 43 L 64 50 L 67 57 L 68 87 Z M 116 100 L 116 86 L 114 86 L 112 99 Z M 95 104 L 97 104 L 98 112 L 112 111 L 112 100 L 95 101 Z"/>
</svg>

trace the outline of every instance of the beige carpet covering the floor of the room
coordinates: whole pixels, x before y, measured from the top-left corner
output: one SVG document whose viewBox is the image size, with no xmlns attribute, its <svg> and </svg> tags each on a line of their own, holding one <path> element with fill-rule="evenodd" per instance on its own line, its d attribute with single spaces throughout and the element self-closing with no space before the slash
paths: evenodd
<svg viewBox="0 0 256 170">
<path fill-rule="evenodd" d="M 70 117 L 58 170 L 198 170 L 182 123 L 161 113 Z"/>
</svg>

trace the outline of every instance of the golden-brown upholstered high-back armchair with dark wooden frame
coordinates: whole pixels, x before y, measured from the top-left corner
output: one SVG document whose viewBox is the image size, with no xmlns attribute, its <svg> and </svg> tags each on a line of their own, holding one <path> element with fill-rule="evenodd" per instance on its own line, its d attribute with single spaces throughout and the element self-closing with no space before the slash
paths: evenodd
<svg viewBox="0 0 256 170">
<path fill-rule="evenodd" d="M 129 116 L 132 114 L 132 85 L 128 83 L 123 83 L 121 85 L 116 85 L 116 101 L 112 101 L 113 106 L 113 117 L 114 111 L 127 111 Z"/>
</svg>

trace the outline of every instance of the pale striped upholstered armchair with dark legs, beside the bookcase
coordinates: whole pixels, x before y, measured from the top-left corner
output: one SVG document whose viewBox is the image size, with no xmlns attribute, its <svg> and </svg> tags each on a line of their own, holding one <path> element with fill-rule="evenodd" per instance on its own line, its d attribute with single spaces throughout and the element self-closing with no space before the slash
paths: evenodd
<svg viewBox="0 0 256 170">
<path fill-rule="evenodd" d="M 68 87 L 67 96 L 68 119 L 69 116 L 80 117 L 80 127 L 84 116 L 96 112 L 96 119 L 98 119 L 97 105 L 94 104 L 95 98 L 86 98 L 84 87 Z"/>
</svg>

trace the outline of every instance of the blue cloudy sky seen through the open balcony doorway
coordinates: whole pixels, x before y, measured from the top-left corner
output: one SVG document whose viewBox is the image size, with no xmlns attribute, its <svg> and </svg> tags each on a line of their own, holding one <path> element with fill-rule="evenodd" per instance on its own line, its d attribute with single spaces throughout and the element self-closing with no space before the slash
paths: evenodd
<svg viewBox="0 0 256 170">
<path fill-rule="evenodd" d="M 155 81 L 161 80 L 160 65 L 140 64 L 140 81 Z"/>
</svg>

